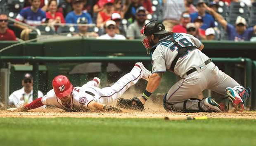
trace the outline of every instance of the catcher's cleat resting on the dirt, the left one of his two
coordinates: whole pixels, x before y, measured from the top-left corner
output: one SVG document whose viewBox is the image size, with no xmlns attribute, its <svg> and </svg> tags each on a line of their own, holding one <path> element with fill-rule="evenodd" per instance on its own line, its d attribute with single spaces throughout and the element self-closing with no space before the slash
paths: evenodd
<svg viewBox="0 0 256 146">
<path fill-rule="evenodd" d="M 204 99 L 204 106 L 208 109 L 206 112 L 223 112 L 222 107 L 211 97 Z"/>
</svg>

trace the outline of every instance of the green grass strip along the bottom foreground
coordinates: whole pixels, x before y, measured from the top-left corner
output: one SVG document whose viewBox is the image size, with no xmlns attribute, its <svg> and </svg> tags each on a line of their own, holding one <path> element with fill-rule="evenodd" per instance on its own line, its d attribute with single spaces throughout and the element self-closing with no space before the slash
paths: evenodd
<svg viewBox="0 0 256 146">
<path fill-rule="evenodd" d="M 256 146 L 256 120 L 0 118 L 0 146 Z"/>
</svg>

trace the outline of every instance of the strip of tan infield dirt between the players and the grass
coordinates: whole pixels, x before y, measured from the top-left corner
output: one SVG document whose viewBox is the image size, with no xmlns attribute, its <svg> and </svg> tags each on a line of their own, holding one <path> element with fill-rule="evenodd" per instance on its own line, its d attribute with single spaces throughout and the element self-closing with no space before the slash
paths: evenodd
<svg viewBox="0 0 256 146">
<path fill-rule="evenodd" d="M 0 111 L 0 117 L 16 118 L 55 118 L 55 117 L 74 117 L 74 118 L 164 118 L 164 117 L 183 117 L 183 116 L 207 116 L 208 118 L 246 118 L 256 119 L 255 111 L 235 112 L 235 113 L 172 113 L 166 111 L 124 111 L 122 113 L 88 113 L 88 112 L 65 112 L 60 109 L 38 109 L 30 112 L 9 112 Z"/>
</svg>

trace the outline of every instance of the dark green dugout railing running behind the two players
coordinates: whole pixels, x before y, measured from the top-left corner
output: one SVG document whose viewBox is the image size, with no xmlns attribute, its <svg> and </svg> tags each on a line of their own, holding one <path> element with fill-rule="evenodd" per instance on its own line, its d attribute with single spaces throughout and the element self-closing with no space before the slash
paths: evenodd
<svg viewBox="0 0 256 146">
<path fill-rule="evenodd" d="M 249 58 L 212 58 L 213 62 L 216 64 L 223 63 L 225 68 L 229 68 L 230 63 L 232 64 L 243 64 L 244 65 L 244 86 L 256 88 L 255 80 L 252 80 L 252 77 L 255 78 L 256 75 L 256 61 L 252 62 Z M 11 62 L 11 63 L 21 63 L 28 62 L 33 65 L 33 76 L 34 76 L 34 86 L 33 86 L 33 97 L 36 97 L 38 91 L 38 74 L 39 74 L 39 63 L 82 63 L 82 62 L 138 62 L 144 61 L 149 62 L 149 57 L 140 57 L 140 56 L 105 56 L 105 57 L 92 57 L 92 56 L 79 56 L 79 57 L 41 57 L 41 56 L 0 56 L 1 62 Z M 252 70 L 252 67 L 254 67 Z M 103 68 L 106 70 L 106 67 Z M 254 71 L 254 72 L 253 72 Z M 254 74 L 253 74 L 254 73 Z M 253 81 L 253 82 L 252 82 Z M 252 84 L 254 83 L 254 84 Z M 247 101 L 247 107 L 251 109 L 256 109 L 255 103 L 256 95 L 253 96 Z"/>
</svg>

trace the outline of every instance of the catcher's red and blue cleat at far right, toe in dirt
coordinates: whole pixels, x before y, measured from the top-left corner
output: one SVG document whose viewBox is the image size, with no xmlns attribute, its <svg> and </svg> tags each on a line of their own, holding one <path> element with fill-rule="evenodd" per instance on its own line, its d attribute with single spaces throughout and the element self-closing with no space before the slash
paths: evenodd
<svg viewBox="0 0 256 146">
<path fill-rule="evenodd" d="M 228 88 L 226 88 L 225 92 L 226 92 L 226 95 L 228 95 L 228 99 L 232 102 L 235 109 L 237 111 L 244 111 L 244 109 L 245 109 L 244 101 L 239 96 L 237 91 L 235 91 L 231 87 L 228 87 Z"/>
</svg>

